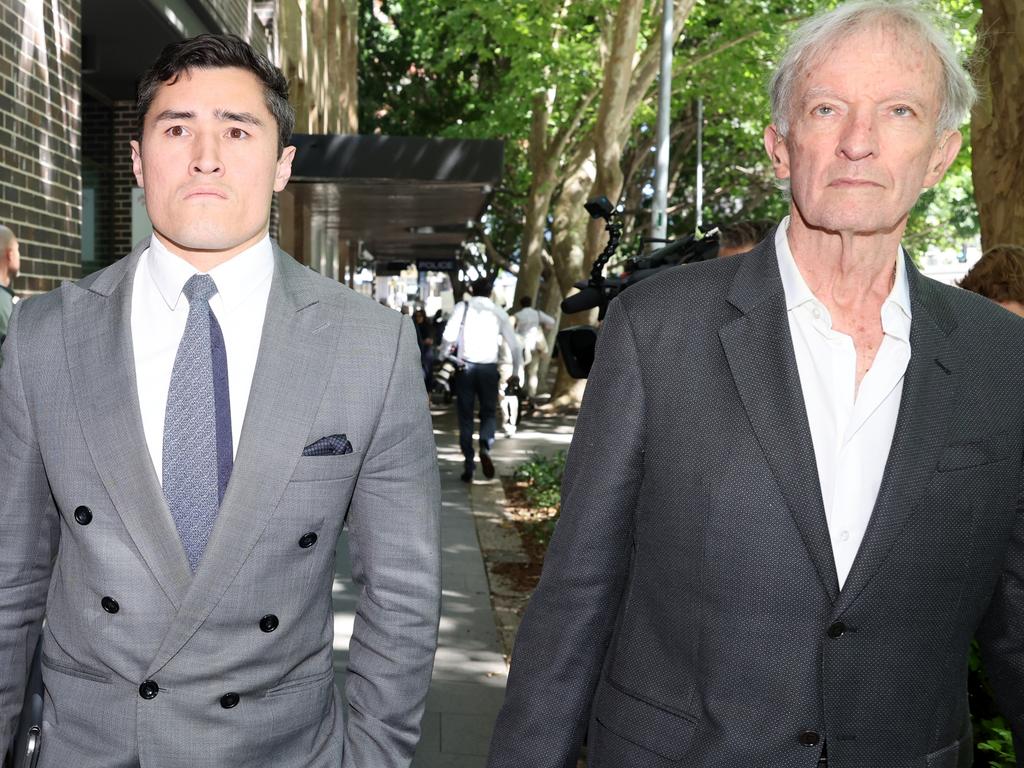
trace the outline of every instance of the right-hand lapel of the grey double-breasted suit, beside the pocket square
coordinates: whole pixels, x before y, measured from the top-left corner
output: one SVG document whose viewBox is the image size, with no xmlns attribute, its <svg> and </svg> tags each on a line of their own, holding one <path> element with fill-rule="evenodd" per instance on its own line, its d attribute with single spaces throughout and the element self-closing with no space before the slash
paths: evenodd
<svg viewBox="0 0 1024 768">
<path fill-rule="evenodd" d="M 330 327 L 317 301 L 313 273 L 280 250 L 274 259 L 231 479 L 203 561 L 150 675 L 206 621 L 262 535 L 302 455 L 335 365 L 338 329 Z"/>
</svg>

